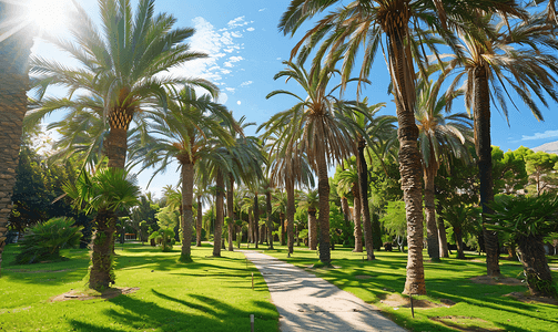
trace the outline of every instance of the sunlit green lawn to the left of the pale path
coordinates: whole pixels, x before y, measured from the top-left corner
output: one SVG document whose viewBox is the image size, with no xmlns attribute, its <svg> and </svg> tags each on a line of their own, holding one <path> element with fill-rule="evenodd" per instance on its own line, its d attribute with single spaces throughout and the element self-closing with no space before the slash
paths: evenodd
<svg viewBox="0 0 558 332">
<path fill-rule="evenodd" d="M 87 250 L 62 250 L 68 261 L 13 266 L 16 245 L 6 248 L 0 278 L 0 331 L 278 331 L 267 287 L 244 255 L 193 249 L 193 263 L 177 261 L 180 247 L 116 247 L 116 287 L 136 292 L 110 300 L 50 302 L 84 289 Z M 252 290 L 252 272 L 255 288 Z"/>
</svg>

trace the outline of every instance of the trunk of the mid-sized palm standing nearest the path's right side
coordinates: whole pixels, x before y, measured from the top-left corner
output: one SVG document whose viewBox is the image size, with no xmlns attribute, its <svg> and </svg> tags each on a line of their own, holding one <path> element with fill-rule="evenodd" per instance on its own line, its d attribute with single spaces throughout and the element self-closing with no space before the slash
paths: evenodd
<svg viewBox="0 0 558 332">
<path fill-rule="evenodd" d="M 319 261 L 324 264 L 332 263 L 329 247 L 329 178 L 327 177 L 327 163 L 325 151 L 317 147 L 317 193 L 319 195 Z"/>
</svg>

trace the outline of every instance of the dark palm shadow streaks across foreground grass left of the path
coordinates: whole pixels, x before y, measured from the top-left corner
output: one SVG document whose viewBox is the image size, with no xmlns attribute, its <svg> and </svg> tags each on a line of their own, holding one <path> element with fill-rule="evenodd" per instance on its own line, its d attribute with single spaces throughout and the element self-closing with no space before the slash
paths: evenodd
<svg viewBox="0 0 558 332">
<path fill-rule="evenodd" d="M 248 312 L 204 295 L 184 295 L 190 298 L 190 301 L 155 290 L 152 292 L 158 298 L 156 302 L 142 301 L 134 297 L 118 297 L 110 300 L 118 308 L 105 310 L 103 314 L 110 321 L 126 326 L 126 330 L 226 332 L 250 331 L 250 314 L 254 314 L 255 331 L 277 331 L 278 314 L 274 305 L 267 302 L 254 301 L 251 307 L 257 309 Z M 124 330 L 80 320 L 72 320 L 70 324 L 78 331 Z"/>
</svg>

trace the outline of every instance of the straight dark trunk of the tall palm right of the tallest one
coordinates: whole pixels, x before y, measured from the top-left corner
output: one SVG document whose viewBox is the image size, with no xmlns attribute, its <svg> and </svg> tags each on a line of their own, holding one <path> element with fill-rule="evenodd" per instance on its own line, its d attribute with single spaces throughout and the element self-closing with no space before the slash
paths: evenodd
<svg viewBox="0 0 558 332">
<path fill-rule="evenodd" d="M 493 189 L 493 148 L 490 145 L 490 92 L 488 89 L 488 72 L 484 66 L 475 70 L 474 77 L 474 124 L 475 148 L 478 156 L 478 175 L 480 178 L 480 206 L 483 207 L 483 237 L 486 251 L 486 273 L 499 277 L 500 266 L 498 236 L 496 231 L 485 227 L 486 214 L 493 214 L 488 206 L 494 201 Z"/>
</svg>

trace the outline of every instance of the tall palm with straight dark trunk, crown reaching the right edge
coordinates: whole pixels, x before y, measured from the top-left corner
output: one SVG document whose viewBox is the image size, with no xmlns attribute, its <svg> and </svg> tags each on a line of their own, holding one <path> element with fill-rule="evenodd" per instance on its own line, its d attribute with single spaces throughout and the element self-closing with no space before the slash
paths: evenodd
<svg viewBox="0 0 558 332">
<path fill-rule="evenodd" d="M 554 30 L 546 23 L 546 17 L 534 14 L 528 20 L 513 25 L 507 20 L 496 21 L 487 13 L 480 17 L 487 32 L 477 27 L 464 25 L 458 30 L 459 54 L 446 55 L 442 79 L 454 74 L 448 89 L 452 94 L 464 81 L 465 105 L 474 115 L 475 147 L 478 156 L 480 178 L 480 205 L 483 215 L 493 214 L 489 204 L 494 201 L 493 164 L 490 143 L 490 104 L 499 106 L 507 116 L 506 100 L 511 100 L 509 91 L 515 91 L 529 107 L 535 117 L 542 120 L 536 96 L 548 107 L 545 93 L 558 102 L 554 89 L 558 82 L 558 42 Z M 514 103 L 514 102 L 513 102 Z M 515 103 L 514 103 L 515 105 Z M 483 217 L 483 224 L 486 218 Z M 483 227 L 487 256 L 487 274 L 500 276 L 498 264 L 498 238 L 495 231 Z"/>
</svg>

